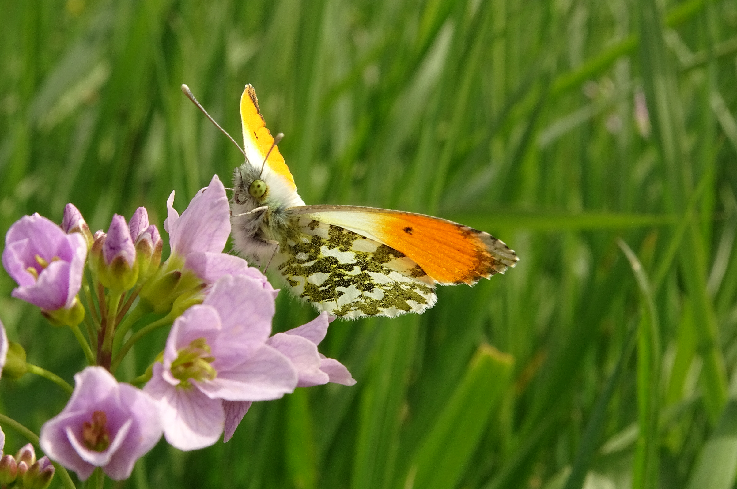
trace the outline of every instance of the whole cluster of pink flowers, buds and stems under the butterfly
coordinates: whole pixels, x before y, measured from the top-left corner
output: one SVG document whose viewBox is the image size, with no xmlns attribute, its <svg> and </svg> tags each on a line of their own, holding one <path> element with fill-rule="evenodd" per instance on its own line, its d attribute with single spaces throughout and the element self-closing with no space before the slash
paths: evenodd
<svg viewBox="0 0 737 489">
<path fill-rule="evenodd" d="M 52 325 L 69 326 L 88 367 L 74 376 L 72 391 L 27 364 L 0 324 L 0 372 L 17 379 L 43 371 L 72 391 L 66 407 L 43 424 L 40 446 L 60 470 L 83 480 L 96 470 L 127 479 L 161 435 L 181 450 L 210 446 L 223 433 L 228 441 L 254 401 L 296 387 L 355 383 L 346 367 L 318 352 L 332 320 L 326 313 L 272 335 L 279 291 L 245 260 L 223 253 L 230 204 L 217 175 L 181 216 L 173 203 L 174 192 L 163 263 L 163 240 L 142 207 L 128 221 L 114 215 L 107 232 L 92 233 L 71 204 L 60 226 L 34 214 L 7 232 L 2 262 L 18 283 L 13 297 L 38 306 Z M 128 384 L 116 381 L 130 348 L 165 326 L 171 326 L 167 342 L 146 373 Z M 1 457 L 0 486 L 46 488 L 54 475 L 49 458 L 35 460 L 31 446 Z"/>
</svg>

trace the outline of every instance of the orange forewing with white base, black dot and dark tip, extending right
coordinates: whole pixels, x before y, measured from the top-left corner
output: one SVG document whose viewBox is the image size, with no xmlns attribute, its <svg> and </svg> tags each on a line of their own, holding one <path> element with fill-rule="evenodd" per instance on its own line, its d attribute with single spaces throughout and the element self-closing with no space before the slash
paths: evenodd
<svg viewBox="0 0 737 489">
<path fill-rule="evenodd" d="M 404 253 L 439 284 L 472 285 L 518 261 L 504 242 L 455 222 L 409 212 L 353 209 L 310 214 Z"/>
</svg>

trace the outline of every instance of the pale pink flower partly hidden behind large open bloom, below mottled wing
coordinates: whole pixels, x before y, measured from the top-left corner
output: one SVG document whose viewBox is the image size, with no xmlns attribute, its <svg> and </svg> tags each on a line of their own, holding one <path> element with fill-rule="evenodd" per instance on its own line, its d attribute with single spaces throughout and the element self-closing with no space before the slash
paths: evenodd
<svg viewBox="0 0 737 489">
<path fill-rule="evenodd" d="M 353 385 L 356 381 L 348 369 L 338 360 L 326 358 L 318 352 L 318 345 L 327 334 L 329 323 L 335 317 L 322 312 L 310 323 L 290 329 L 284 333 L 277 333 L 266 342 L 272 348 L 284 353 L 297 370 L 297 387 L 312 387 L 314 385 L 335 382 L 336 384 Z M 226 410 L 225 438 L 228 441 L 233 437 L 238 424 L 251 407 L 251 402 L 223 401 Z"/>
</svg>

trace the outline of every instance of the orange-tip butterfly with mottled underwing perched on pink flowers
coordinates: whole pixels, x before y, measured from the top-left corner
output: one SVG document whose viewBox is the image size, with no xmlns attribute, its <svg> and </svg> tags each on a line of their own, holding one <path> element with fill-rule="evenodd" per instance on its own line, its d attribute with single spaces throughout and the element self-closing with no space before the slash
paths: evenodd
<svg viewBox="0 0 737 489">
<path fill-rule="evenodd" d="M 276 270 L 318 311 L 343 318 L 422 313 L 436 303 L 436 285 L 473 285 L 517 264 L 504 242 L 456 222 L 381 208 L 305 205 L 276 146 L 283 135 L 271 136 L 252 85 L 245 85 L 240 115 L 245 162 L 233 173 L 234 247 L 264 270 Z"/>
</svg>

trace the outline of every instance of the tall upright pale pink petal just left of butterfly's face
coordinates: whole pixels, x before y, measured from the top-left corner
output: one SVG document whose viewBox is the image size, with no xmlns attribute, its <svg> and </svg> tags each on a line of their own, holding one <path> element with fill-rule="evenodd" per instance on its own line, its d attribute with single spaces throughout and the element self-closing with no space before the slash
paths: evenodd
<svg viewBox="0 0 737 489">
<path fill-rule="evenodd" d="M 230 235 L 230 204 L 217 175 L 195 194 L 175 222 L 168 222 L 172 253 L 187 256 L 194 251 L 220 253 Z"/>
</svg>

